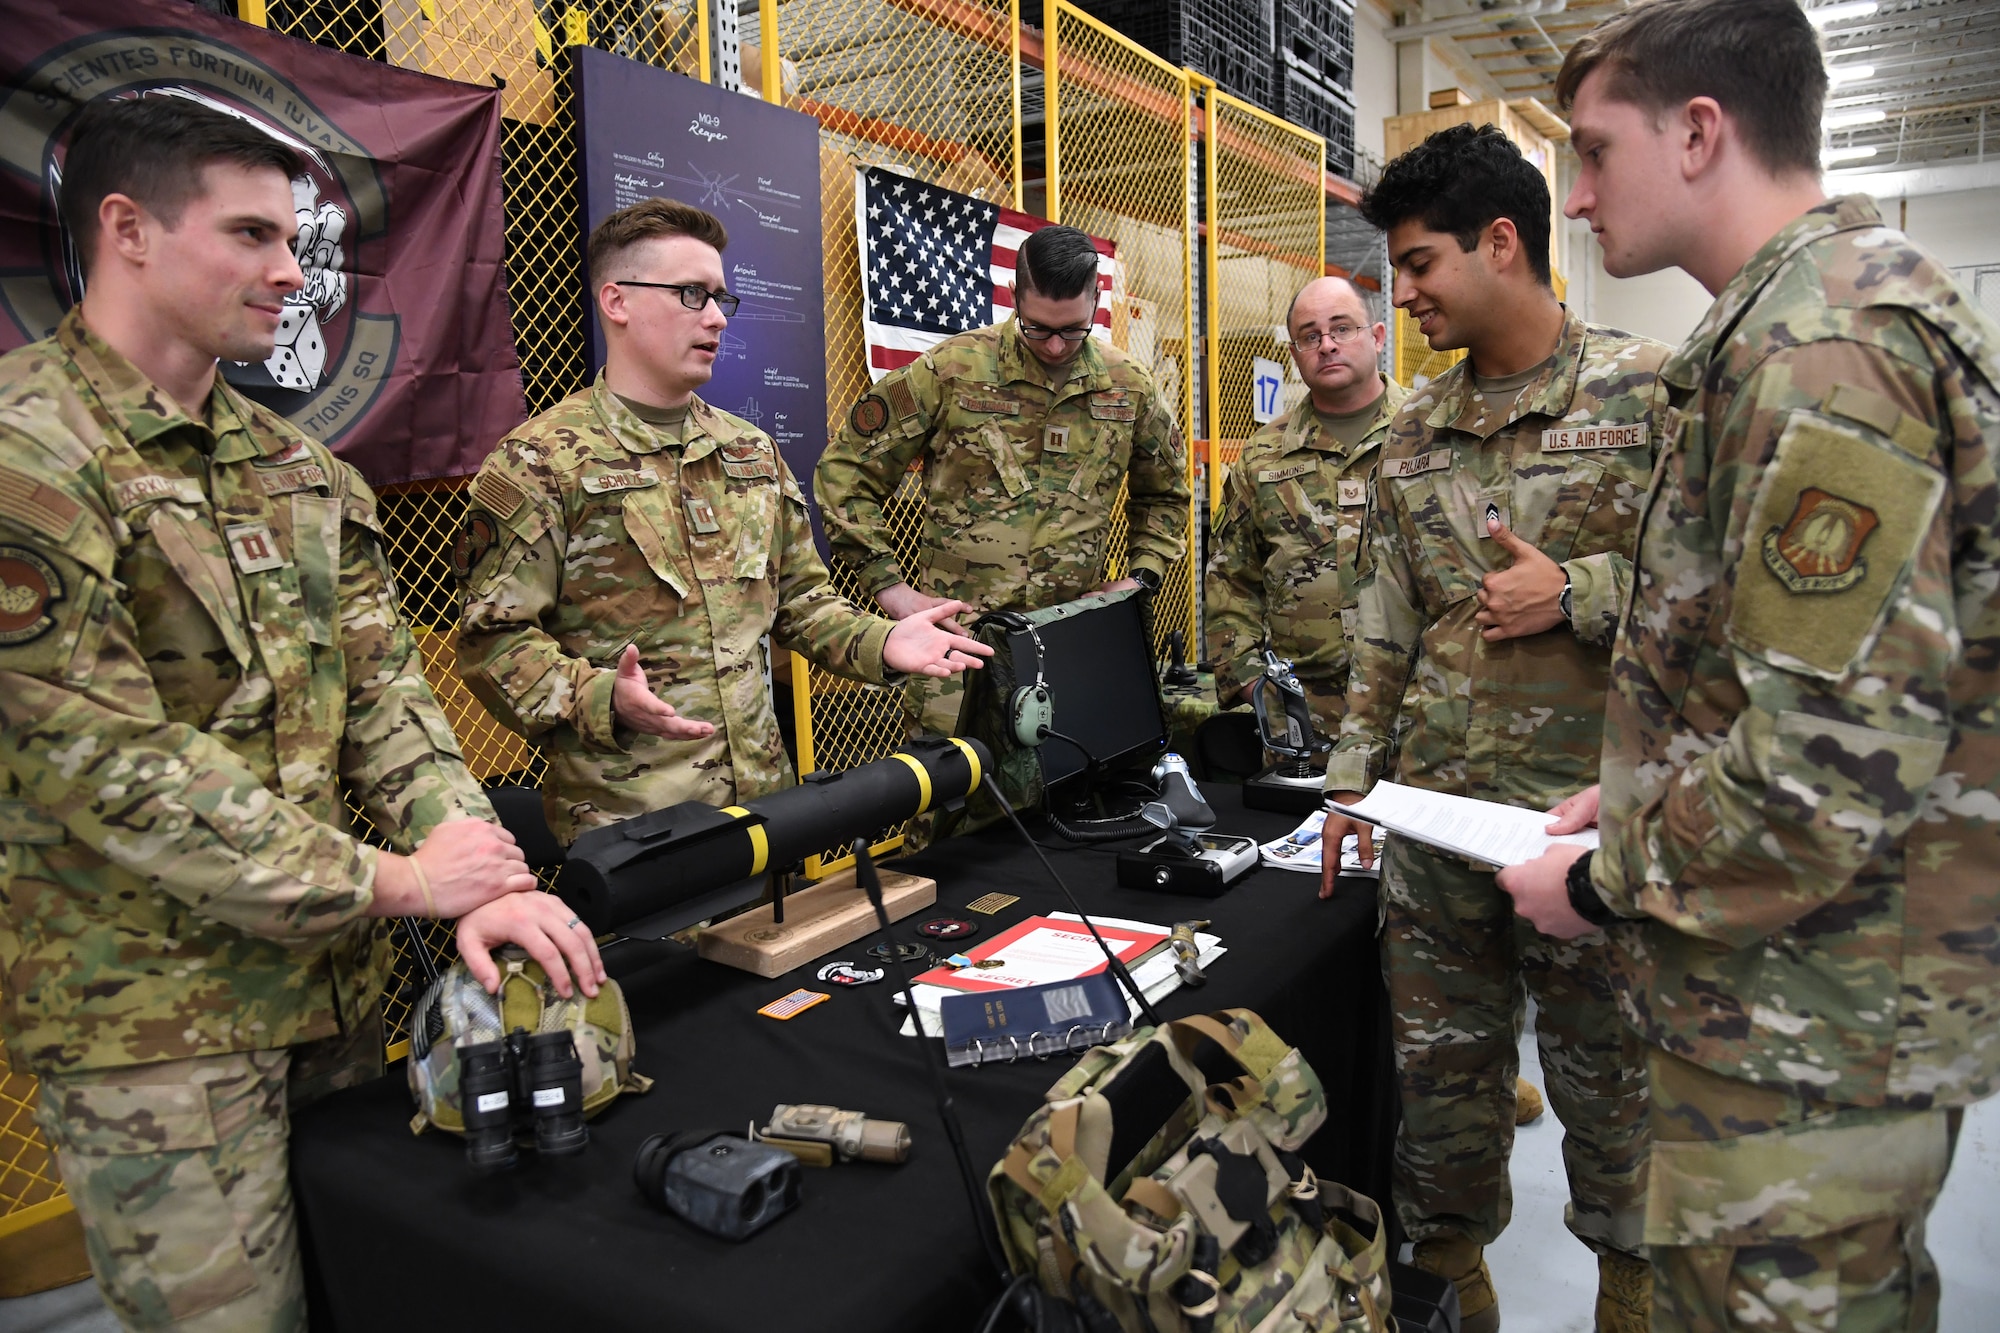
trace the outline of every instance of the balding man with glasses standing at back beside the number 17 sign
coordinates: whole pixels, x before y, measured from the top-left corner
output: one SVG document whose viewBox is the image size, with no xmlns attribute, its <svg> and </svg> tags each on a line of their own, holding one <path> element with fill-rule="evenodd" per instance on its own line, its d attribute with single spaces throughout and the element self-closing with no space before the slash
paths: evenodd
<svg viewBox="0 0 2000 1333">
<path fill-rule="evenodd" d="M 1346 278 L 1314 278 L 1286 314 L 1308 396 L 1258 426 L 1222 482 L 1208 556 L 1216 701 L 1232 707 L 1290 658 L 1320 731 L 1346 713 L 1354 574 L 1376 446 L 1408 390 L 1378 370 L 1388 328 Z"/>
</svg>

